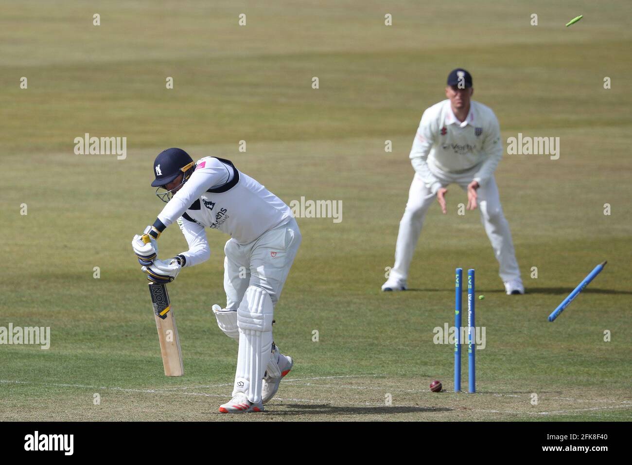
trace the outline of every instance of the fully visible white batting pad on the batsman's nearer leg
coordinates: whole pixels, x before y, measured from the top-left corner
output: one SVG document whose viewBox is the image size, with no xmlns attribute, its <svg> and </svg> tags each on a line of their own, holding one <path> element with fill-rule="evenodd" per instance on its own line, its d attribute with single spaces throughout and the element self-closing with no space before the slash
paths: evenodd
<svg viewBox="0 0 632 465">
<path fill-rule="evenodd" d="M 254 404 L 261 402 L 261 380 L 272 353 L 272 316 L 274 306 L 262 288 L 246 289 L 237 309 L 239 353 L 233 396 L 240 392 Z"/>
</svg>

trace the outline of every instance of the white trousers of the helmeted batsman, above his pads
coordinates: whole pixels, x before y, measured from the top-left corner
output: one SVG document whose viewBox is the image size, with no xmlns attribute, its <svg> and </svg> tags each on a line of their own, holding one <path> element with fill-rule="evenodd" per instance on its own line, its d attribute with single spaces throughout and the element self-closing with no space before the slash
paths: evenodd
<svg viewBox="0 0 632 465">
<path fill-rule="evenodd" d="M 294 218 L 249 244 L 229 239 L 224 246 L 226 310 L 237 311 L 250 285 L 267 290 L 276 306 L 300 244 L 301 232 Z"/>
</svg>

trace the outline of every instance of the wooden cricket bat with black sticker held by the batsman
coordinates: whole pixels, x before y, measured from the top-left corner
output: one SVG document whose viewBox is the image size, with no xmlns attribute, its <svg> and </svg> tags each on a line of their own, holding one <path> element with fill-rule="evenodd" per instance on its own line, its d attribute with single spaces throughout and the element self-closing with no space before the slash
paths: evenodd
<svg viewBox="0 0 632 465">
<path fill-rule="evenodd" d="M 154 317 L 158 329 L 158 340 L 162 354 L 162 365 L 166 376 L 182 376 L 185 370 L 182 366 L 182 351 L 176 316 L 171 309 L 169 294 L 164 284 L 149 283 L 149 294 L 154 306 Z"/>
</svg>

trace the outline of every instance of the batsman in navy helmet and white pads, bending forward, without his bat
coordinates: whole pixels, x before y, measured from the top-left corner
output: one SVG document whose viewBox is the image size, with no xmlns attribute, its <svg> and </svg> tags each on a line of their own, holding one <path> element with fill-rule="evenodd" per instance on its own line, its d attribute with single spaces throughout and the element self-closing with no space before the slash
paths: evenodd
<svg viewBox="0 0 632 465">
<path fill-rule="evenodd" d="M 226 159 L 193 162 L 185 151 L 167 149 L 155 159 L 154 175 L 152 187 L 167 205 L 145 229 L 149 242 L 141 235 L 132 242 L 142 270 L 152 281 L 171 282 L 181 268 L 209 259 L 205 228 L 231 235 L 224 247 L 226 308 L 214 305 L 213 313 L 239 350 L 233 399 L 219 411 L 263 411 L 293 365 L 272 341 L 272 318 L 301 243 L 296 220 L 279 197 Z M 174 221 L 189 250 L 160 261 L 156 239 Z"/>
</svg>

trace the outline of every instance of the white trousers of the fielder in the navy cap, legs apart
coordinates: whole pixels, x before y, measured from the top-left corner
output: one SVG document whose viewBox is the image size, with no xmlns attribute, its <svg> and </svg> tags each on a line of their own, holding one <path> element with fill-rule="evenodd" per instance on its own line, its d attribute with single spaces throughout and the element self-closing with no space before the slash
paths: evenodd
<svg viewBox="0 0 632 465">
<path fill-rule="evenodd" d="M 472 180 L 471 173 L 463 175 L 447 175 L 443 172 L 435 172 L 442 187 L 447 187 L 451 183 L 458 183 L 463 190 L 467 190 L 468 184 Z M 499 275 L 503 281 L 520 278 L 520 269 L 516 261 L 511 231 L 509 223 L 502 214 L 501 200 L 498 195 L 498 187 L 494 177 L 477 190 L 477 203 L 480 209 L 480 217 L 485 226 L 485 232 L 492 243 L 494 255 L 500 265 Z M 415 246 L 419 235 L 422 232 L 423 220 L 428 208 L 433 203 L 438 203 L 437 195 L 432 194 L 429 187 L 426 187 L 420 176 L 415 173 L 413 182 L 408 192 L 408 203 L 404 210 L 404 216 L 399 221 L 399 233 L 397 245 L 395 246 L 395 265 L 391 270 L 391 276 L 406 280 L 408 269 L 415 252 Z M 449 201 L 449 197 L 447 197 Z M 464 202 L 465 203 L 465 202 Z"/>
</svg>

